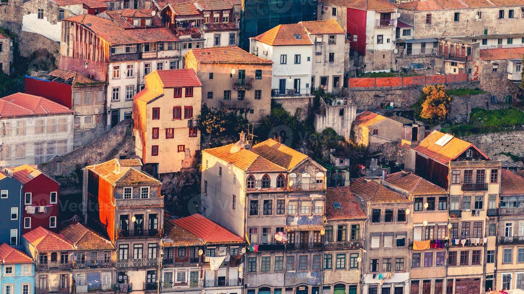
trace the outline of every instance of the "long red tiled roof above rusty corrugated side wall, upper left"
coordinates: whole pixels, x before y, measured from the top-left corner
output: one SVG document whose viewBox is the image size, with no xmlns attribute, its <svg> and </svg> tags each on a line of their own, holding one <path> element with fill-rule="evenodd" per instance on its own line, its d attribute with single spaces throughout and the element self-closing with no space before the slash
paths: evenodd
<svg viewBox="0 0 524 294">
<path fill-rule="evenodd" d="M 83 25 L 86 29 L 93 31 L 95 35 L 111 45 L 180 41 L 180 39 L 166 27 L 141 27 L 139 29 L 126 30 L 110 19 L 91 14 L 77 15 L 63 20 Z"/>
</svg>

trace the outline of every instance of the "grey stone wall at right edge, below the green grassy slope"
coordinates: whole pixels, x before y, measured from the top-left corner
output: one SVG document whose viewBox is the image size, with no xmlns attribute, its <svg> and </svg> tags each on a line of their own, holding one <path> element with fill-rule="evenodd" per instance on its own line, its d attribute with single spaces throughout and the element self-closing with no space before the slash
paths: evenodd
<svg viewBox="0 0 524 294">
<path fill-rule="evenodd" d="M 524 130 L 461 137 L 462 140 L 474 144 L 488 156 L 494 156 L 500 152 L 510 152 L 520 157 L 524 157 L 524 144 L 522 144 L 522 138 L 524 138 Z"/>
</svg>

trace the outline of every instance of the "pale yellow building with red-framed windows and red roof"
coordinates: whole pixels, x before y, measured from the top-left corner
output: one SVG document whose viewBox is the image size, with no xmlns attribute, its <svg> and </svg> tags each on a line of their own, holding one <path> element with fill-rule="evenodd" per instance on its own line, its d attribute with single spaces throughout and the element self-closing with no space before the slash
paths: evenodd
<svg viewBox="0 0 524 294">
<path fill-rule="evenodd" d="M 158 70 L 145 80 L 133 101 L 136 153 L 160 174 L 195 166 L 202 83 L 193 69 Z"/>
</svg>

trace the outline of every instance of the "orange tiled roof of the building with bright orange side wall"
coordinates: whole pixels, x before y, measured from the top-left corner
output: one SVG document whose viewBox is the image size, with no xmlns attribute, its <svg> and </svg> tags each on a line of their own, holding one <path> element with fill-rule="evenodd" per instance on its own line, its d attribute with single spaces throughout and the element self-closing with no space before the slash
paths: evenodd
<svg viewBox="0 0 524 294">
<path fill-rule="evenodd" d="M 119 171 L 117 170 L 119 165 Z M 119 160 L 112 159 L 101 164 L 86 166 L 97 175 L 103 177 L 113 186 L 160 186 L 162 183 L 156 178 L 137 171 L 134 167 L 123 166 Z"/>
</svg>

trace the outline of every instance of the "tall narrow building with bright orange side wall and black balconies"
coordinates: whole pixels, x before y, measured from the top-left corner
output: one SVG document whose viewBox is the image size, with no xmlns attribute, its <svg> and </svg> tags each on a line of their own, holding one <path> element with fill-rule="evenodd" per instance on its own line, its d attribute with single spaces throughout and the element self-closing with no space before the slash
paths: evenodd
<svg viewBox="0 0 524 294">
<path fill-rule="evenodd" d="M 84 219 L 117 248 L 116 281 L 133 290 L 157 291 L 161 267 L 161 183 L 141 172 L 137 159 L 86 166 Z"/>
</svg>

